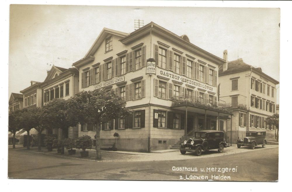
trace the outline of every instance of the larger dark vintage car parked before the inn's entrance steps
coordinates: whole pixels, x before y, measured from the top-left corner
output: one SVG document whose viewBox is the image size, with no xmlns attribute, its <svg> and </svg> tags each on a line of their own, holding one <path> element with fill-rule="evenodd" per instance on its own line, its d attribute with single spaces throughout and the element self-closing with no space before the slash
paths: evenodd
<svg viewBox="0 0 292 192">
<path fill-rule="evenodd" d="M 223 131 L 202 130 L 194 133 L 194 137 L 180 144 L 180 153 L 194 152 L 199 156 L 203 151 L 218 149 L 222 153 L 224 147 L 229 147 Z"/>
</svg>

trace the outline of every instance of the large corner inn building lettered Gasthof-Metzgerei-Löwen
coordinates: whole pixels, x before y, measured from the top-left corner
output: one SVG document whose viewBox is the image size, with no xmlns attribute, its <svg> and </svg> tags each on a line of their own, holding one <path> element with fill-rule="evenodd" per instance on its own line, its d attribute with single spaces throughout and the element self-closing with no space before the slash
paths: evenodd
<svg viewBox="0 0 292 192">
<path fill-rule="evenodd" d="M 156 74 L 145 75 L 148 58 Z M 101 126 L 79 125 L 79 136 L 93 140 L 101 129 L 102 143 L 124 151 L 168 149 L 195 130 L 227 131 L 231 106 L 218 102 L 218 68 L 225 61 L 151 22 L 132 32 L 104 28 L 79 69 L 79 90 L 113 90 L 133 114 Z"/>
</svg>

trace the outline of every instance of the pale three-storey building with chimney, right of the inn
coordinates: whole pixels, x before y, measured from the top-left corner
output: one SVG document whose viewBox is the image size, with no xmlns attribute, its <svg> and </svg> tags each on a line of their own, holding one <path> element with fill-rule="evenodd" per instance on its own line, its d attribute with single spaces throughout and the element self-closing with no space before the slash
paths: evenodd
<svg viewBox="0 0 292 192">
<path fill-rule="evenodd" d="M 266 138 L 274 138 L 275 128 L 266 125 L 265 120 L 275 113 L 275 87 L 279 82 L 241 58 L 227 62 L 227 50 L 223 59 L 226 63 L 219 68 L 219 99 L 232 104 L 232 143 L 246 131 L 258 129 L 266 130 Z"/>
</svg>

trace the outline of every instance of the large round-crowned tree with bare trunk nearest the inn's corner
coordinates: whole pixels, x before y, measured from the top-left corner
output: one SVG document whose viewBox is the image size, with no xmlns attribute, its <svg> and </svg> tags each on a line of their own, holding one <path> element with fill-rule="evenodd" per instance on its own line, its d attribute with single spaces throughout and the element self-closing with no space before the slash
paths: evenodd
<svg viewBox="0 0 292 192">
<path fill-rule="evenodd" d="M 96 128 L 96 158 L 101 159 L 100 153 L 100 123 L 106 123 L 114 118 L 129 114 L 125 107 L 126 101 L 114 94 L 114 91 L 95 89 L 81 91 L 67 100 L 67 115 L 79 124 L 95 125 Z"/>
</svg>

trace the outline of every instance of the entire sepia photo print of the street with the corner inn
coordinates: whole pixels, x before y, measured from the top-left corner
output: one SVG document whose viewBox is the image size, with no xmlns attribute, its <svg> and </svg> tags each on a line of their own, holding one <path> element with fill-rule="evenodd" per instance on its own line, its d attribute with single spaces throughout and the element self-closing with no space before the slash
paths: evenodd
<svg viewBox="0 0 292 192">
<path fill-rule="evenodd" d="M 280 14 L 11 4 L 7 177 L 278 182 Z"/>
</svg>

